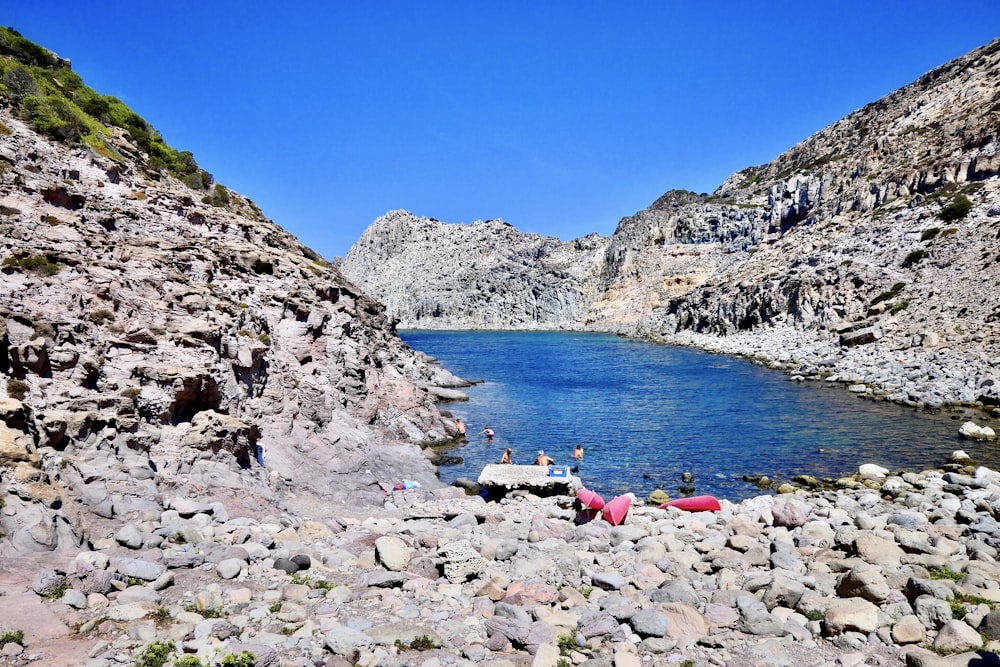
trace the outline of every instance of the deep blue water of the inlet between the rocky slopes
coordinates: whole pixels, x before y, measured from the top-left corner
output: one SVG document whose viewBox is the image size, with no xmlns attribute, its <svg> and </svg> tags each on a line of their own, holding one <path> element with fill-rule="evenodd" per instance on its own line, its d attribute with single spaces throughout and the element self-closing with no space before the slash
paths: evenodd
<svg viewBox="0 0 1000 667">
<path fill-rule="evenodd" d="M 514 449 L 531 463 L 539 449 L 572 465 L 605 497 L 656 488 L 677 496 L 691 472 L 696 493 L 739 500 L 758 495 L 747 473 L 788 479 L 835 477 L 861 463 L 890 469 L 940 465 L 964 449 L 1000 467 L 987 444 L 958 437 L 958 416 L 930 416 L 872 403 L 840 386 L 793 383 L 748 361 L 589 333 L 402 331 L 411 347 L 468 380 L 468 402 L 443 403 L 469 429 L 468 443 L 441 466 L 444 482 L 475 479 Z M 493 444 L 477 433 L 496 431 Z M 1000 449 L 1000 448 L 996 448 Z"/>
</svg>

